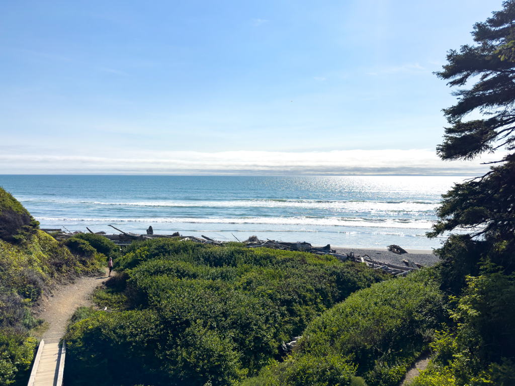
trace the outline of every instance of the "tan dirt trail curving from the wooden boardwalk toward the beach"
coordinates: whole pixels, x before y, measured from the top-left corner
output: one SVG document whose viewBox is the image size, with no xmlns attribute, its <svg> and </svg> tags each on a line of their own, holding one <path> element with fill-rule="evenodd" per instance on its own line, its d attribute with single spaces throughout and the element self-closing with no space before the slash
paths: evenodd
<svg viewBox="0 0 515 386">
<path fill-rule="evenodd" d="M 88 299 L 91 292 L 107 279 L 107 273 L 99 277 L 78 277 L 74 284 L 59 286 L 50 296 L 43 295 L 35 310 L 37 318 L 43 318 L 50 325 L 43 339 L 61 338 L 73 312 L 77 307 L 91 306 Z"/>
</svg>

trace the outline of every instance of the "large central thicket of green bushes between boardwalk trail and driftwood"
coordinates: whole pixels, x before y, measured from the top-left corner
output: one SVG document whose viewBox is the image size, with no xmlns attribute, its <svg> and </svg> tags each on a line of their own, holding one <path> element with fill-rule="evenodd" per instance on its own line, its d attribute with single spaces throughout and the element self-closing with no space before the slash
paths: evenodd
<svg viewBox="0 0 515 386">
<path fill-rule="evenodd" d="M 332 256 L 169 239 L 133 243 L 117 270 L 94 299 L 126 311 L 99 311 L 70 327 L 68 383 L 99 372 L 100 385 L 236 384 L 281 359 L 281 342 L 322 312 L 389 277 Z M 324 368 L 352 375 L 344 362 L 335 357 Z M 296 371 L 321 372 L 313 363 Z M 112 377 L 101 371 L 111 368 Z"/>
</svg>

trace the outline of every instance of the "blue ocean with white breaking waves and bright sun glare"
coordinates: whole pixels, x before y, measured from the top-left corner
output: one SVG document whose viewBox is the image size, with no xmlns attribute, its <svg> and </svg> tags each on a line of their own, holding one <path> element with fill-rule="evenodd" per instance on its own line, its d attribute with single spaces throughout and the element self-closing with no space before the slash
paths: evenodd
<svg viewBox="0 0 515 386">
<path fill-rule="evenodd" d="M 0 176 L 42 228 L 438 248 L 441 195 L 462 177 Z"/>
</svg>

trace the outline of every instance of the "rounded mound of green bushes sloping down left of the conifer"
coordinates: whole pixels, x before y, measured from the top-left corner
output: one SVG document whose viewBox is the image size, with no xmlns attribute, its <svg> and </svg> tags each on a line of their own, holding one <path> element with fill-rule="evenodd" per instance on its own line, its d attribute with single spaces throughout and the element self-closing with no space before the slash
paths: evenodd
<svg viewBox="0 0 515 386">
<path fill-rule="evenodd" d="M 369 385 L 396 385 L 411 362 L 428 347 L 433 329 L 445 316 L 443 296 L 431 271 L 377 283 L 353 293 L 316 318 L 305 329 L 295 355 L 260 377 L 266 379 L 264 384 L 294 385 L 297 383 L 281 380 L 287 372 L 285 366 L 289 370 L 301 361 L 324 368 L 330 364 L 326 360 L 333 362 L 337 357 L 355 365 L 356 374 Z M 310 384 L 346 382 L 338 383 L 328 375 Z"/>
</svg>

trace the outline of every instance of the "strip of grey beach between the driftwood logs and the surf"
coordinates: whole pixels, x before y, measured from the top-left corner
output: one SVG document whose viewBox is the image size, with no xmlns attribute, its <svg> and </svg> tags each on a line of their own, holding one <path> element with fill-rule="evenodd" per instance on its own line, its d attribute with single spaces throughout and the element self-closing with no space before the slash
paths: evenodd
<svg viewBox="0 0 515 386">
<path fill-rule="evenodd" d="M 404 265 L 402 260 L 410 259 L 417 264 L 421 264 L 424 267 L 431 267 L 435 265 L 439 259 L 432 250 L 406 250 L 408 253 L 398 255 L 396 253 L 388 251 L 386 248 L 369 249 L 369 248 L 339 248 L 333 247 L 336 253 L 345 255 L 354 252 L 356 256 L 369 255 L 374 260 L 380 260 L 389 262 L 390 264 Z"/>
</svg>

